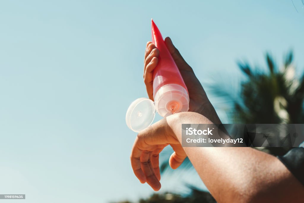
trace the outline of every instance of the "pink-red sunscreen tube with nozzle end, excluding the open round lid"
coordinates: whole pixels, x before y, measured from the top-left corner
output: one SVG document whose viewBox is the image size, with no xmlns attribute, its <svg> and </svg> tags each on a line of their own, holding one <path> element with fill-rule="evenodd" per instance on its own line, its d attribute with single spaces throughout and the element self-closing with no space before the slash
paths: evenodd
<svg viewBox="0 0 304 203">
<path fill-rule="evenodd" d="M 153 71 L 153 96 L 157 112 L 166 117 L 188 111 L 187 87 L 153 20 L 152 42 L 159 50 L 158 64 Z"/>
</svg>

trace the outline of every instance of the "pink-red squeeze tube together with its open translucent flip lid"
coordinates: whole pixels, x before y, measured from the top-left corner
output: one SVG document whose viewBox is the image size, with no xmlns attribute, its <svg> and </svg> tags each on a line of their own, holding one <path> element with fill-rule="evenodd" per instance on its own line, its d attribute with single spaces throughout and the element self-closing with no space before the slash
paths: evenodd
<svg viewBox="0 0 304 203">
<path fill-rule="evenodd" d="M 152 41 L 159 49 L 158 64 L 153 70 L 154 102 L 148 98 L 139 98 L 129 106 L 126 124 L 134 132 L 151 125 L 155 110 L 163 117 L 189 110 L 187 87 L 153 20 Z"/>
</svg>

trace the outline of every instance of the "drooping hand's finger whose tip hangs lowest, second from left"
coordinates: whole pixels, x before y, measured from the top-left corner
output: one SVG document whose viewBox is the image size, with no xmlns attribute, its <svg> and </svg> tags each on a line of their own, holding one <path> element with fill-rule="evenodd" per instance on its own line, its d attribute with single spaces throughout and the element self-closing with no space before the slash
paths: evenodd
<svg viewBox="0 0 304 203">
<path fill-rule="evenodd" d="M 152 164 L 150 160 L 150 151 L 143 151 L 140 157 L 141 169 L 146 176 L 147 183 L 153 188 L 153 190 L 158 191 L 161 188 L 161 183 L 157 179 Z"/>
</svg>

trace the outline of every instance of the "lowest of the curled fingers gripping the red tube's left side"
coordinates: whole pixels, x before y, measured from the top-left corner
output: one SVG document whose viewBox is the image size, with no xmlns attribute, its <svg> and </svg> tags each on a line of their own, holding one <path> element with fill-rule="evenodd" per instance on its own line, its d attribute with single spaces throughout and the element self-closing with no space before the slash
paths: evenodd
<svg viewBox="0 0 304 203">
<path fill-rule="evenodd" d="M 151 62 L 147 65 L 146 72 L 144 73 L 144 83 L 146 85 L 149 99 L 154 101 L 153 98 L 153 70 L 158 64 L 158 58 L 154 57 Z"/>
</svg>

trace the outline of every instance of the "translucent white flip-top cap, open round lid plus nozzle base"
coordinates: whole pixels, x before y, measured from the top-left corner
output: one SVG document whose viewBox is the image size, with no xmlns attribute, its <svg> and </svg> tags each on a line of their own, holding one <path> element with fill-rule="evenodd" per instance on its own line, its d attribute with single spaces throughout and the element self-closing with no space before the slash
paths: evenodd
<svg viewBox="0 0 304 203">
<path fill-rule="evenodd" d="M 188 92 L 177 84 L 161 87 L 154 100 L 155 102 L 148 98 L 139 98 L 132 102 L 126 113 L 126 124 L 131 130 L 139 132 L 150 126 L 155 117 L 155 109 L 163 117 L 189 110 Z"/>
</svg>

